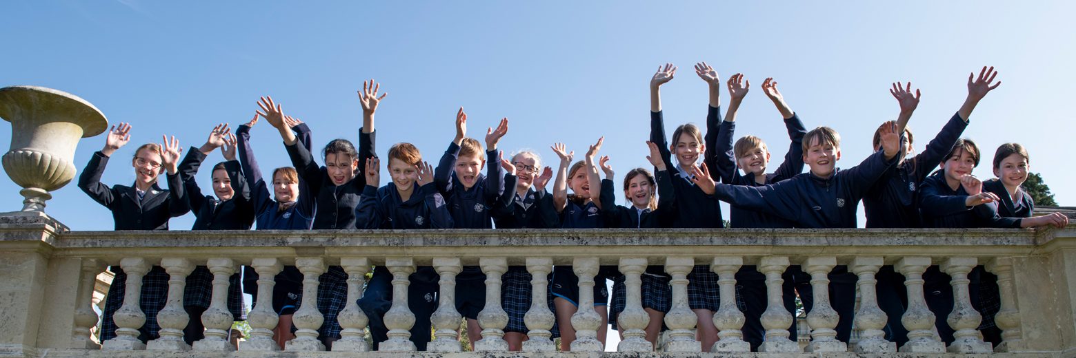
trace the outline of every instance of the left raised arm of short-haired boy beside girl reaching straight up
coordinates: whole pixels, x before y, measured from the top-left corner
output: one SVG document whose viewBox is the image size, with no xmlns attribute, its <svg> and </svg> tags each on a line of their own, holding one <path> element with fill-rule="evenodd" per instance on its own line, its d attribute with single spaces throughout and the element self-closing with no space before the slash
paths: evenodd
<svg viewBox="0 0 1076 358">
<path fill-rule="evenodd" d="M 706 117 L 706 145 L 710 148 L 706 151 L 706 156 L 712 157 L 706 164 L 718 171 L 718 176 L 721 177 L 722 183 L 732 184 L 736 183 L 736 177 L 739 176 L 739 171 L 736 170 L 736 154 L 733 152 L 733 135 L 736 132 L 736 112 L 739 111 L 739 105 L 744 101 L 744 96 L 747 96 L 748 89 L 751 87 L 751 82 L 748 81 L 745 86 L 744 74 L 737 73 L 728 78 L 727 85 L 732 100 L 728 101 L 728 113 L 725 115 L 725 120 L 721 120 L 720 116 L 714 115 Z M 717 109 L 713 106 L 710 108 L 710 112 L 718 114 Z M 710 119 L 711 117 L 713 117 L 712 120 Z M 711 135 L 713 135 L 712 141 L 710 140 Z"/>
</svg>

